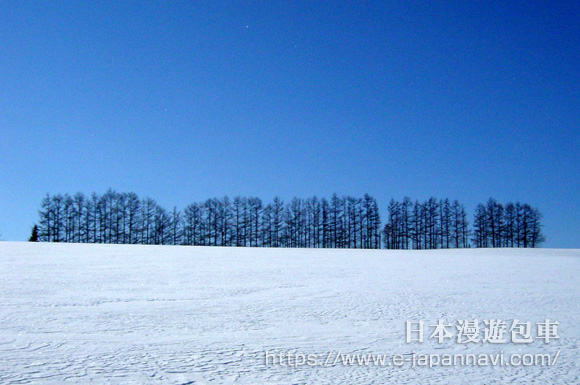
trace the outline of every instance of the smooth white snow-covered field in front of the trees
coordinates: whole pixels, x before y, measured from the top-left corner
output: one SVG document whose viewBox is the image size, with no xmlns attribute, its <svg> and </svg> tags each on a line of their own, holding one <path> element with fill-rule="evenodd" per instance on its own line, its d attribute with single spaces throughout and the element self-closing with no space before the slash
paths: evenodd
<svg viewBox="0 0 580 385">
<path fill-rule="evenodd" d="M 580 250 L 0 242 L 0 383 L 578 384 L 579 277 Z M 560 338 L 439 344 L 429 338 L 439 319 L 508 328 L 517 319 L 534 336 L 549 319 Z M 406 343 L 407 320 L 425 322 L 424 343 Z M 334 362 L 339 352 L 502 351 L 558 357 L 554 366 Z M 266 352 L 321 359 L 266 364 Z"/>
</svg>

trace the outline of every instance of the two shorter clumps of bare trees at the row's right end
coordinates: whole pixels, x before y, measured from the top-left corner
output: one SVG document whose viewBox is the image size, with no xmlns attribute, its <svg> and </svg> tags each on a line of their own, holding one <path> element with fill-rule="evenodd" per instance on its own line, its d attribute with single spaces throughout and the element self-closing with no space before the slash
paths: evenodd
<svg viewBox="0 0 580 385">
<path fill-rule="evenodd" d="M 542 214 L 529 204 L 502 205 L 490 198 L 475 209 L 470 229 L 465 207 L 457 200 L 391 200 L 383 229 L 386 249 L 537 247 L 545 241 Z"/>
</svg>

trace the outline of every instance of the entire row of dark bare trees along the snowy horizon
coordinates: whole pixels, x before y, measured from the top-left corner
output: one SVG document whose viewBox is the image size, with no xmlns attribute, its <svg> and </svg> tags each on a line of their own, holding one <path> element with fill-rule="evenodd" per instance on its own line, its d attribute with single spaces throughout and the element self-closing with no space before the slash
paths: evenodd
<svg viewBox="0 0 580 385">
<path fill-rule="evenodd" d="M 495 205 L 491 211 L 478 205 L 471 230 L 464 206 L 448 199 L 391 200 L 387 223 L 381 227 L 377 201 L 368 194 L 293 198 L 286 203 L 279 197 L 264 203 L 257 197 L 225 196 L 192 203 L 183 211 L 168 211 L 133 192 L 47 194 L 30 240 L 359 249 L 462 248 L 470 247 L 470 241 L 476 247 L 539 245 L 544 240 L 539 212 L 518 203 L 513 206 L 521 214 L 506 216 L 509 205 L 501 215 Z M 481 218 L 480 206 L 485 209 Z"/>
</svg>

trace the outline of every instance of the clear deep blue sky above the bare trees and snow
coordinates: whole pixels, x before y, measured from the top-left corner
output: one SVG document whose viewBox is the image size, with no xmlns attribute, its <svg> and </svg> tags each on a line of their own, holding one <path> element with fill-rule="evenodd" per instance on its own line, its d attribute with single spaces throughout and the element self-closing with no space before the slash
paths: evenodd
<svg viewBox="0 0 580 385">
<path fill-rule="evenodd" d="M 580 2 L 3 1 L 0 162 L 4 240 L 111 187 L 493 196 L 578 248 Z"/>
</svg>

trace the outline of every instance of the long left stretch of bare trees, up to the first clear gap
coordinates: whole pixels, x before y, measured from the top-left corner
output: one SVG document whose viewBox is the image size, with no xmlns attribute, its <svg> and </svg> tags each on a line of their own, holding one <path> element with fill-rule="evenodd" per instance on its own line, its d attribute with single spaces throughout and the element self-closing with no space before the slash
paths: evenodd
<svg viewBox="0 0 580 385">
<path fill-rule="evenodd" d="M 183 212 L 113 190 L 103 195 L 47 195 L 33 237 L 45 242 L 380 248 L 376 200 L 339 197 L 208 199 Z"/>
</svg>

